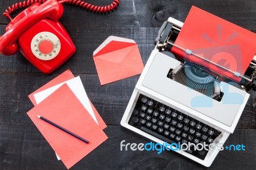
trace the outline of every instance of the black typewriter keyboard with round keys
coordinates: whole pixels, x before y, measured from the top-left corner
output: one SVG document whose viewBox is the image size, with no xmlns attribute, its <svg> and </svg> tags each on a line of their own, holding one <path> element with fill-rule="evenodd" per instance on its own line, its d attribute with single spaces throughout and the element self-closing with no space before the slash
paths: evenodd
<svg viewBox="0 0 256 170">
<path fill-rule="evenodd" d="M 211 144 L 221 134 L 215 128 L 144 95 L 138 98 L 129 125 L 168 144 L 179 142 L 180 144 L 188 144 L 188 142 Z M 202 160 L 207 155 L 207 150 L 200 151 L 191 148 L 186 152 Z"/>
</svg>

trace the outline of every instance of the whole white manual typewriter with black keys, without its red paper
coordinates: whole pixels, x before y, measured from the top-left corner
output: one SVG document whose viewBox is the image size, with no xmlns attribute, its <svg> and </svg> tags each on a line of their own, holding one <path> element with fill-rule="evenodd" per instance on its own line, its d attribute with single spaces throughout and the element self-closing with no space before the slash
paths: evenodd
<svg viewBox="0 0 256 170">
<path fill-rule="evenodd" d="M 243 75 L 243 83 L 220 79 L 216 72 L 170 52 L 183 24 L 170 17 L 159 30 L 156 47 L 121 125 L 156 143 L 204 143 L 220 148 L 236 128 L 250 97 L 247 91 L 256 90 L 256 56 Z M 196 150 L 192 146 L 175 151 L 209 167 L 220 149 Z"/>
</svg>

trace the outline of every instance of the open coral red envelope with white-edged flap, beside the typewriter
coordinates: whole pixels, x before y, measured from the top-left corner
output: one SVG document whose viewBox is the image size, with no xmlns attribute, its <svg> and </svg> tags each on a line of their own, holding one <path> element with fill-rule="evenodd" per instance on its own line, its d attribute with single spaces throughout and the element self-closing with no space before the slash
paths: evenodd
<svg viewBox="0 0 256 170">
<path fill-rule="evenodd" d="M 100 84 L 119 81 L 142 72 L 140 50 L 134 40 L 109 36 L 94 52 Z"/>
</svg>

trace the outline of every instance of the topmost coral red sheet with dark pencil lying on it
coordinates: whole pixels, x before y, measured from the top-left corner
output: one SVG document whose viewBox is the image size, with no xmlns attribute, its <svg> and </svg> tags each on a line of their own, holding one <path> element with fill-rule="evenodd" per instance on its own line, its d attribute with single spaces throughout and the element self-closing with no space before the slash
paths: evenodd
<svg viewBox="0 0 256 170">
<path fill-rule="evenodd" d="M 88 140 L 89 143 L 86 144 L 53 127 L 40 120 L 36 115 L 43 116 L 70 130 L 70 132 Z M 28 116 L 68 169 L 108 139 L 67 84 L 61 86 L 43 102 L 31 109 Z"/>
</svg>

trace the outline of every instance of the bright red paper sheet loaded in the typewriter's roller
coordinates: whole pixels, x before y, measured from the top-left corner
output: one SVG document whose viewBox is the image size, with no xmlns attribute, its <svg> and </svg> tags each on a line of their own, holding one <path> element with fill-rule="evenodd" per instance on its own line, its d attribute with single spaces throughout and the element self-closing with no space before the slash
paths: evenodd
<svg viewBox="0 0 256 170">
<path fill-rule="evenodd" d="M 175 44 L 244 75 L 256 54 L 255 40 L 255 33 L 192 6 Z M 188 55 L 176 47 L 172 48 L 172 52 L 234 81 L 241 81 L 241 77 Z"/>
</svg>

